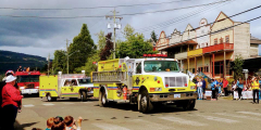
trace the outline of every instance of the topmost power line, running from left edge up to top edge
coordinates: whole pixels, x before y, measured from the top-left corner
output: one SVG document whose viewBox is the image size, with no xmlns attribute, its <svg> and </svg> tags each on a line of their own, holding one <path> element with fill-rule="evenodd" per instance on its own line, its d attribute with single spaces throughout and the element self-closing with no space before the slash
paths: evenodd
<svg viewBox="0 0 261 130">
<path fill-rule="evenodd" d="M 176 0 L 169 2 L 159 2 L 159 3 L 140 3 L 140 4 L 129 4 L 129 5 L 105 5 L 105 6 L 92 6 L 92 8 L 64 8 L 64 9 L 22 9 L 22 8 L 0 8 L 0 10 L 85 10 L 85 9 L 112 9 L 112 8 L 130 8 L 130 6 L 142 6 L 142 5 L 156 5 L 156 4 L 166 4 L 166 3 L 175 3 L 175 2 L 185 2 L 191 0 Z"/>
</svg>

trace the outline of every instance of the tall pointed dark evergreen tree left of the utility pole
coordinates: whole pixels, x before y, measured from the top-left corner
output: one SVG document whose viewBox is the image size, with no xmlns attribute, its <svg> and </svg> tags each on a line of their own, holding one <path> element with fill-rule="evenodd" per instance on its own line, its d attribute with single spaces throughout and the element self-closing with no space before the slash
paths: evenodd
<svg viewBox="0 0 261 130">
<path fill-rule="evenodd" d="M 75 68 L 84 66 L 87 57 L 91 56 L 97 47 L 91 39 L 90 32 L 86 24 L 83 24 L 78 36 L 74 37 L 73 43 L 70 44 L 70 73 L 74 73 Z"/>
</svg>

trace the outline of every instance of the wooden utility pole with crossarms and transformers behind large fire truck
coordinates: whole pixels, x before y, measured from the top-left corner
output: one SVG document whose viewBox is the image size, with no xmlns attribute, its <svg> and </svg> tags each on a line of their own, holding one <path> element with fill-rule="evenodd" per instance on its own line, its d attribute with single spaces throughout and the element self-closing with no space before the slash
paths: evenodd
<svg viewBox="0 0 261 130">
<path fill-rule="evenodd" d="M 114 39 L 113 39 L 114 40 L 114 42 L 113 42 L 113 58 L 115 58 L 115 52 L 116 52 L 116 29 L 121 28 L 121 24 L 116 23 L 116 18 L 121 21 L 123 17 L 117 17 L 116 16 L 116 13 L 119 13 L 119 12 L 116 12 L 115 8 L 112 11 L 112 13 L 113 13 L 113 16 L 112 15 L 105 15 L 105 17 L 107 18 L 108 17 L 113 18 L 113 35 L 114 35 Z M 110 29 L 109 24 L 108 24 L 108 28 Z"/>
</svg>

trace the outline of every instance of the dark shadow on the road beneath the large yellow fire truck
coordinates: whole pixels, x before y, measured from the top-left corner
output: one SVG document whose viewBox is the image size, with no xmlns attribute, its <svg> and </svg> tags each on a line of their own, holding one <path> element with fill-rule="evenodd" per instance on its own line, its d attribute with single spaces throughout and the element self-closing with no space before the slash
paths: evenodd
<svg viewBox="0 0 261 130">
<path fill-rule="evenodd" d="M 96 105 L 96 106 L 100 107 L 99 105 Z M 138 112 L 138 106 L 136 104 L 112 103 L 108 107 L 117 108 L 122 110 Z M 182 107 L 177 107 L 176 105 L 158 104 L 158 105 L 154 105 L 154 108 L 150 114 L 194 112 L 194 110 L 198 110 L 198 109 L 194 108 L 192 110 L 184 110 Z"/>
</svg>

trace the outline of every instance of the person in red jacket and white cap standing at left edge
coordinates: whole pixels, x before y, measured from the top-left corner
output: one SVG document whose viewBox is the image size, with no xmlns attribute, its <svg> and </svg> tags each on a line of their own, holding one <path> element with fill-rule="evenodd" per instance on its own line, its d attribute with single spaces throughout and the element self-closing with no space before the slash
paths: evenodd
<svg viewBox="0 0 261 130">
<path fill-rule="evenodd" d="M 18 89 L 14 87 L 16 77 L 10 75 L 7 77 L 7 84 L 2 89 L 2 113 L 3 130 L 14 130 L 14 122 L 17 115 L 18 103 L 23 99 Z"/>
</svg>

